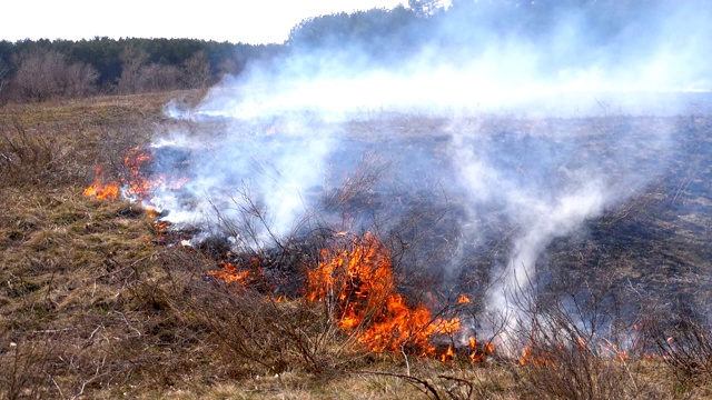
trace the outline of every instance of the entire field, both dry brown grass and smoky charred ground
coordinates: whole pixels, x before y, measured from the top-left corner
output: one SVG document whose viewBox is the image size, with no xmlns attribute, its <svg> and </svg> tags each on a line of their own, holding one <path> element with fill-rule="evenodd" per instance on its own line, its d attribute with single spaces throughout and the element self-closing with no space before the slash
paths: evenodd
<svg viewBox="0 0 712 400">
<path fill-rule="evenodd" d="M 97 167 L 106 181 L 129 179 L 125 157 L 157 133 L 192 134 L 209 127 L 221 138 L 236 129 L 226 121 L 178 121 L 162 113 L 171 99 L 191 106 L 204 94 L 0 108 L 1 397 L 712 396 L 709 108 L 675 117 L 478 116 L 456 123 L 368 114 L 338 128 L 339 150 L 329 163 L 334 176 L 358 173 L 304 192 L 305 201 L 315 197 L 325 212 L 301 223 L 308 229 L 291 230 L 289 240 L 236 252 L 224 238 L 181 246 L 198 228 L 160 223 L 126 199 L 83 194 Z M 268 121 L 240 129 L 278 138 L 287 128 Z M 474 136 L 457 139 L 458 132 Z M 553 231 L 542 222 L 537 232 L 547 240 L 534 246 L 542 247 L 536 273 L 527 273 L 534 282 L 518 282 L 536 288 L 537 296 L 530 298 L 533 289 L 526 289 L 516 299 L 526 306 L 518 318 L 528 324 L 508 332 L 517 343 L 511 348 L 486 348 L 493 338 L 479 333 L 486 329 L 477 319 L 488 311 L 485 298 L 497 281 L 497 266 L 521 259 L 518 240 L 528 237 L 527 223 L 541 224 L 541 212 L 493 206 L 492 197 L 507 187 L 490 188 L 494 194 L 485 197 L 484 188 L 472 194 L 453 182 L 464 164 L 445 162 L 442 154 L 472 143 L 473 137 L 487 149 L 475 156 L 490 157 L 497 171 L 506 172 L 507 184 L 527 193 L 566 194 L 566 182 L 550 179 L 554 171 L 591 172 L 613 188 L 605 191 L 601 212 L 586 214 L 575 228 L 564 223 Z M 259 140 L 250 144 L 259 148 Z M 289 140 L 301 144 L 301 138 Z M 377 151 L 368 150 L 374 144 Z M 368 151 L 353 151 L 362 148 Z M 154 154 L 155 169 L 175 167 L 168 156 L 180 149 L 169 150 Z M 180 166 L 207 160 L 185 156 Z M 462 220 L 473 214 L 477 229 L 464 228 Z M 376 262 L 373 271 L 392 267 L 384 273 L 393 281 L 378 279 L 392 282 L 393 291 L 379 292 L 383 298 L 368 303 L 362 322 L 345 329 L 344 314 L 334 309 L 347 306 L 338 296 L 319 294 L 307 271 L 328 267 L 342 250 L 357 259 L 359 243 L 374 243 L 364 227 L 378 240 L 367 250 L 387 249 L 378 257 L 388 261 Z M 253 239 L 259 234 L 255 231 Z M 236 278 L 240 268 L 251 273 L 248 284 Z M 344 273 L 335 270 L 330 277 L 344 280 Z M 365 287 L 354 288 L 363 293 Z M 431 344 L 408 341 L 413 334 L 364 340 L 369 323 L 380 321 L 382 302 L 396 292 L 408 310 L 428 304 L 428 327 L 436 317 L 464 323 L 464 316 L 475 316 L 466 334 L 476 333 L 479 343 L 459 344 L 442 323 L 433 328 L 438 338 L 432 354 L 425 354 Z M 456 301 L 461 293 L 468 302 Z M 394 343 L 395 351 L 386 349 Z"/>
</svg>

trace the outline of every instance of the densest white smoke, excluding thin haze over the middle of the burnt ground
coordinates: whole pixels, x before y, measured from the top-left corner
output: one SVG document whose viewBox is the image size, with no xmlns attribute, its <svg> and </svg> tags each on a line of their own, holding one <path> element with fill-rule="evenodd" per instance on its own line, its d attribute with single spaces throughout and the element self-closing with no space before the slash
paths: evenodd
<svg viewBox="0 0 712 400">
<path fill-rule="evenodd" d="M 177 119 L 217 121 L 224 128 L 156 141 L 156 148 L 175 148 L 191 161 L 182 197 L 162 190 L 155 201 L 176 223 L 217 218 L 257 227 L 263 239 L 290 234 L 318 211 L 310 196 L 315 188 L 333 184 L 328 166 L 350 146 L 345 123 L 374 112 L 376 119 L 446 118 L 453 168 L 445 171 L 453 174 L 437 178 L 466 193 L 469 220 L 462 221 L 463 231 L 484 229 L 477 221 L 493 207 L 516 227 L 507 262 L 497 266 L 497 281 L 486 293 L 490 310 L 515 313 L 512 296 L 532 290 L 537 260 L 552 240 L 574 233 L 655 178 L 655 166 L 639 168 L 642 161 L 631 151 L 664 160 L 674 138 L 666 122 L 655 131 L 614 127 L 604 132 L 611 151 L 586 158 L 592 150 L 586 138 L 577 137 L 585 132 L 546 132 L 544 123 L 544 129 L 513 133 L 513 141 L 534 143 L 524 150 L 534 154 L 520 154 L 526 163 L 517 164 L 502 161 L 517 156 L 508 154 L 506 143 L 495 144 L 500 132 L 467 123 L 486 116 L 544 120 L 685 112 L 689 93 L 712 89 L 708 9 L 694 1 L 641 9 L 639 19 L 605 42 L 589 33 L 591 22 L 575 9 L 560 11 L 557 23 L 536 39 L 491 31 L 490 20 L 445 20 L 449 23 L 423 34 L 442 39 L 469 32 L 481 38 L 477 51 L 433 44 L 397 64 L 374 67 L 346 44 L 336 54 L 294 52 L 268 70 L 226 78 L 192 110 L 167 110 Z M 349 162 L 337 169 L 346 170 Z"/>
</svg>

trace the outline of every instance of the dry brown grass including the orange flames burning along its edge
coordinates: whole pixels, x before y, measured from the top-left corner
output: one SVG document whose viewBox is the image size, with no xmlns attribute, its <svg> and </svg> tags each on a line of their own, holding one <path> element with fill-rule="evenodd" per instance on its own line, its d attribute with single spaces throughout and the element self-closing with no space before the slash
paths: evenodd
<svg viewBox="0 0 712 400">
<path fill-rule="evenodd" d="M 134 171 L 150 154 L 136 149 L 145 123 L 160 122 L 164 100 L 0 109 L 2 397 L 709 397 L 710 333 L 699 321 L 647 314 L 640 329 L 621 330 L 646 343 L 631 346 L 602 340 L 597 322 L 583 329 L 596 313 L 573 319 L 552 301 L 531 316 L 545 324 L 516 332 L 524 352 L 511 353 L 477 337 L 477 291 L 459 290 L 472 286 L 413 296 L 397 238 L 328 231 L 231 254 L 181 246 L 191 232 L 122 198 L 146 192 Z M 703 204 L 699 176 L 689 176 L 675 203 Z M 95 178 L 92 196 L 82 196 Z M 110 182 L 118 194 L 98 200 Z M 649 210 L 659 207 L 647 200 Z M 641 209 L 609 217 L 631 221 Z M 704 218 L 686 214 L 690 232 Z M 607 220 L 594 233 L 605 223 L 624 228 Z"/>
</svg>

